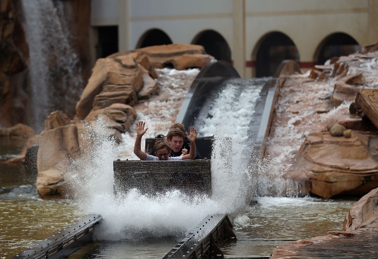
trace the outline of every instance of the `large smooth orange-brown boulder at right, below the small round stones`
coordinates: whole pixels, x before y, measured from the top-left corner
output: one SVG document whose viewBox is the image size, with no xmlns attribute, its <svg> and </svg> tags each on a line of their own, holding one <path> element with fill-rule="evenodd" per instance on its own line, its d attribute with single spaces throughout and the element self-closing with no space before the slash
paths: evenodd
<svg viewBox="0 0 378 259">
<path fill-rule="evenodd" d="M 311 133 L 285 178 L 305 181 L 310 192 L 328 199 L 363 195 L 378 186 L 378 135 L 352 131 L 351 137 Z"/>
</svg>

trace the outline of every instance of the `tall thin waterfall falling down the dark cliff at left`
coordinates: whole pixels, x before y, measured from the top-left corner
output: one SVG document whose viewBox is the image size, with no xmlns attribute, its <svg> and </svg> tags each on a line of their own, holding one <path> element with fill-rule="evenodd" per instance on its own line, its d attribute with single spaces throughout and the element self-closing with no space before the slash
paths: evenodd
<svg viewBox="0 0 378 259">
<path fill-rule="evenodd" d="M 72 115 L 83 80 L 62 8 L 52 0 L 22 0 L 22 6 L 30 51 L 31 124 L 40 132 L 52 111 Z"/>
</svg>

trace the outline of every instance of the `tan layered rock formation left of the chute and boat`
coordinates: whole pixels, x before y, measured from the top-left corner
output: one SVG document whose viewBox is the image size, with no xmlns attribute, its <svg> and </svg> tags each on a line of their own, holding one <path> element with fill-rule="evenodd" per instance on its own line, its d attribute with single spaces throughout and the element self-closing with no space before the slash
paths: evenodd
<svg viewBox="0 0 378 259">
<path fill-rule="evenodd" d="M 93 138 L 121 142 L 136 119 L 139 100 L 158 94 L 155 68 L 203 67 L 213 60 L 202 46 L 171 44 L 119 52 L 98 59 L 73 120 L 54 111 L 39 136 L 37 190 L 42 198 L 71 195 L 67 174 L 75 159 L 90 155 Z M 95 132 L 96 131 L 96 132 Z M 96 134 L 96 136 L 93 136 Z"/>
</svg>

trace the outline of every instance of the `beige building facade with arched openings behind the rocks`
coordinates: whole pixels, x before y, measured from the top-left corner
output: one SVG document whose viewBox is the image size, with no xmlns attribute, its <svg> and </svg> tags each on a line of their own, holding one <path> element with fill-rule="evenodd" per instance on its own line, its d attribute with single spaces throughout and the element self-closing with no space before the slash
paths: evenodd
<svg viewBox="0 0 378 259">
<path fill-rule="evenodd" d="M 308 69 L 378 40 L 378 0 L 92 0 L 91 4 L 94 58 L 156 44 L 201 44 L 217 59 L 232 62 L 245 78 L 271 75 L 286 58 Z"/>
</svg>

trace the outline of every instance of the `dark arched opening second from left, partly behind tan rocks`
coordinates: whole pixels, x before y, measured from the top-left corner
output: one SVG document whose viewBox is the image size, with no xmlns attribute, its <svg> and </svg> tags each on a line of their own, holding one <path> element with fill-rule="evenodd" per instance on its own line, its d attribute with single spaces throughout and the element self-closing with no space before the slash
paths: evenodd
<svg viewBox="0 0 378 259">
<path fill-rule="evenodd" d="M 214 56 L 217 60 L 224 60 L 231 63 L 231 50 L 225 38 L 215 30 L 205 30 L 198 34 L 192 44 L 201 45 L 206 53 Z"/>
</svg>

